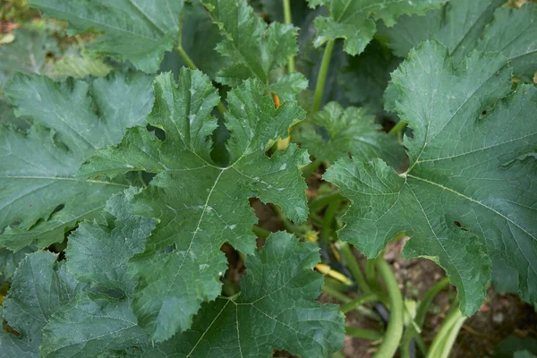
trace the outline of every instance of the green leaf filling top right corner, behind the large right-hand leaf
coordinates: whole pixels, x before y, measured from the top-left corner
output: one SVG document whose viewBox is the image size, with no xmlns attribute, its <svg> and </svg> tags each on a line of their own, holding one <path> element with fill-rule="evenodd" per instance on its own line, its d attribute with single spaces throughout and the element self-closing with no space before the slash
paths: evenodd
<svg viewBox="0 0 537 358">
<path fill-rule="evenodd" d="M 537 71 L 537 4 L 520 9 L 501 7 L 504 0 L 452 0 L 425 16 L 403 16 L 393 28 L 381 28 L 396 55 L 426 39 L 443 43 L 456 63 L 473 49 L 498 51 L 511 61 L 514 73 L 524 79 Z"/>
</svg>

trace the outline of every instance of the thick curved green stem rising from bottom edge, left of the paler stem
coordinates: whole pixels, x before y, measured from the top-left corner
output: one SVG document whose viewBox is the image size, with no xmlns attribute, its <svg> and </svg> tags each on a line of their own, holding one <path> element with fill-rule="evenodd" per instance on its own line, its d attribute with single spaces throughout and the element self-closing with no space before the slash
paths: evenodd
<svg viewBox="0 0 537 358">
<path fill-rule="evenodd" d="M 397 284 L 394 273 L 389 268 L 388 262 L 380 255 L 377 259 L 377 268 L 379 275 L 382 277 L 389 295 L 389 320 L 388 328 L 384 334 L 384 339 L 379 346 L 379 350 L 374 355 L 376 358 L 391 358 L 396 354 L 397 346 L 403 336 L 404 328 L 404 309 L 403 297 Z"/>
</svg>

